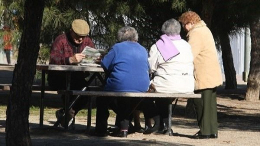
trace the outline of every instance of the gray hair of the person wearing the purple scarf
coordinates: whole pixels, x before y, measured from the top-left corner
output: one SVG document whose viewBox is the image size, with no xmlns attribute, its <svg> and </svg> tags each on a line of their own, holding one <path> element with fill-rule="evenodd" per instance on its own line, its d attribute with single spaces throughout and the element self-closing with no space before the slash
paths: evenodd
<svg viewBox="0 0 260 146">
<path fill-rule="evenodd" d="M 166 20 L 161 26 L 161 32 L 166 35 L 177 35 L 180 32 L 180 23 L 174 18 Z"/>
</svg>

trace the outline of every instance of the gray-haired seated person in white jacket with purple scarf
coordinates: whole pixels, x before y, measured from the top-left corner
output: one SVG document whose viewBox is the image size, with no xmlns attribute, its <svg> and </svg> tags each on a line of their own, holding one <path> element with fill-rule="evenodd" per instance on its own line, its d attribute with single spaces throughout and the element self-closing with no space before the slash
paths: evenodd
<svg viewBox="0 0 260 146">
<path fill-rule="evenodd" d="M 190 45 L 181 39 L 180 23 L 174 18 L 166 20 L 162 26 L 162 35 L 150 47 L 148 62 L 152 74 L 150 88 L 164 93 L 193 93 L 193 56 Z M 160 115 L 160 132 L 168 128 L 168 105 L 172 98 L 155 99 Z M 172 130 L 171 130 L 172 132 Z"/>
</svg>

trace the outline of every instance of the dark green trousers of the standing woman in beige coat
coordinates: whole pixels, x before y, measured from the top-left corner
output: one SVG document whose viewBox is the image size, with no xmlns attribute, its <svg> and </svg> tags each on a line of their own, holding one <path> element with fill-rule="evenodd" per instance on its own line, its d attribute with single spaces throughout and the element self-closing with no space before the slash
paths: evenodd
<svg viewBox="0 0 260 146">
<path fill-rule="evenodd" d="M 217 134 L 216 87 L 194 92 L 201 94 L 193 99 L 200 134 Z"/>
</svg>

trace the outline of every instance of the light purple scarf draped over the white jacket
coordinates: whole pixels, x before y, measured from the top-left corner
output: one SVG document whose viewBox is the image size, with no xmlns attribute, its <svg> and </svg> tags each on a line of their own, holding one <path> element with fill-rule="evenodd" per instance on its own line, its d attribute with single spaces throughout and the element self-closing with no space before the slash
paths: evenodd
<svg viewBox="0 0 260 146">
<path fill-rule="evenodd" d="M 169 35 L 163 34 L 160 36 L 160 39 L 156 41 L 156 46 L 163 57 L 164 61 L 176 56 L 179 54 L 176 46 L 171 42 L 171 40 L 179 40 L 181 39 L 180 35 Z"/>
</svg>

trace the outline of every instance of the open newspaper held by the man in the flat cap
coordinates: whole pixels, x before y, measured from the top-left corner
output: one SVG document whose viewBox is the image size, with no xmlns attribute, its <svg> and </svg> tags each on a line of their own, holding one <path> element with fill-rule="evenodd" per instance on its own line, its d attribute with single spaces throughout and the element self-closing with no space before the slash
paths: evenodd
<svg viewBox="0 0 260 146">
<path fill-rule="evenodd" d="M 85 58 L 81 61 L 81 65 L 85 65 L 87 63 L 95 63 L 96 58 L 100 55 L 104 56 L 107 53 L 106 49 L 95 49 L 89 46 L 86 46 L 82 52 L 82 54 L 85 54 Z"/>
</svg>

